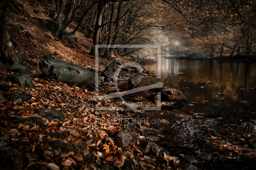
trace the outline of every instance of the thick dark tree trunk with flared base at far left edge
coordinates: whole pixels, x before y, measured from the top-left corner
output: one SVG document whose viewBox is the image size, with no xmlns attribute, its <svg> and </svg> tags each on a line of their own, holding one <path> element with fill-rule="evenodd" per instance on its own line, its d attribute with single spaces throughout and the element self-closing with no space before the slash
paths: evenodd
<svg viewBox="0 0 256 170">
<path fill-rule="evenodd" d="M 0 55 L 1 59 L 10 63 L 22 63 L 27 61 L 18 45 L 13 43 L 8 34 L 6 19 L 7 7 L 12 0 L 0 0 Z"/>
</svg>

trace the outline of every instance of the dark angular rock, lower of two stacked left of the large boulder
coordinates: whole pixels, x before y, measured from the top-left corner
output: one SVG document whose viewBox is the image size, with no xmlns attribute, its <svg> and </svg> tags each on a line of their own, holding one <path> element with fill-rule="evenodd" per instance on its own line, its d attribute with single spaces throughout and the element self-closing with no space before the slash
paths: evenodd
<svg viewBox="0 0 256 170">
<path fill-rule="evenodd" d="M 10 80 L 12 84 L 19 85 L 22 89 L 26 89 L 27 87 L 34 89 L 36 87 L 27 74 L 15 74 L 8 76 L 6 79 Z"/>
</svg>

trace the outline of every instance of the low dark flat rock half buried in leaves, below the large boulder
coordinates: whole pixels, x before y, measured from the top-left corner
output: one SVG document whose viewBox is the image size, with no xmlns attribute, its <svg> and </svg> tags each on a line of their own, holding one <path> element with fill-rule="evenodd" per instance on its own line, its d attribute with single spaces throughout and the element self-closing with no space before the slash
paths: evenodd
<svg viewBox="0 0 256 170">
<path fill-rule="evenodd" d="M 24 109 L 19 109 L 20 111 L 22 110 L 33 110 L 34 114 L 37 114 L 49 121 L 52 119 L 59 119 L 61 122 L 63 122 L 66 117 L 63 115 L 62 112 L 54 110 L 54 109 L 48 109 L 48 108 L 24 108 Z"/>
</svg>

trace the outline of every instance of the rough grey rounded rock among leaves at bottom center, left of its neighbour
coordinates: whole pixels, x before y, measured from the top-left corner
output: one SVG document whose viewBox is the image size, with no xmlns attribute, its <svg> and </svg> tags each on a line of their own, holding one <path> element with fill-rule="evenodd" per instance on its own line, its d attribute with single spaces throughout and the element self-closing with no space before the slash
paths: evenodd
<svg viewBox="0 0 256 170">
<path fill-rule="evenodd" d="M 126 132 L 125 130 L 120 130 L 116 134 L 115 140 L 119 147 L 125 149 L 129 146 L 132 148 L 133 145 L 137 144 L 137 140 L 140 140 L 140 138 L 135 132 Z"/>
</svg>

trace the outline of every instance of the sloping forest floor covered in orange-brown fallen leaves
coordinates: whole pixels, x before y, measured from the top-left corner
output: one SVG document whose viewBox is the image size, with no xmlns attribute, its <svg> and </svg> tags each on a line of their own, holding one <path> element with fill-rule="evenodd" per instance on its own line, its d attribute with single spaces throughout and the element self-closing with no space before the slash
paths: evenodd
<svg viewBox="0 0 256 170">
<path fill-rule="evenodd" d="M 60 41 L 40 26 L 42 20 L 50 20 L 46 13 L 51 9 L 49 4 L 34 0 L 16 3 L 20 8 L 8 9 L 7 19 L 22 33 L 19 36 L 9 27 L 9 34 L 24 55 L 38 63 L 45 54 L 51 54 L 61 61 L 95 70 L 95 60 L 88 54 L 92 40 L 84 38 L 82 31 Z M 70 28 L 76 24 L 74 21 Z M 128 61 L 123 57 L 121 60 Z M 107 64 L 100 59 L 99 69 L 104 70 Z M 102 94 L 84 85 L 45 78 L 38 65 L 30 66 L 34 69 L 30 78 L 36 88 L 21 89 L 6 79 L 16 74 L 8 72 L 8 66 L 0 68 L 0 169 L 179 169 L 175 168 L 179 166 L 177 157 L 149 157 L 136 144 L 132 148 L 117 146 L 111 137 L 127 130 L 127 126 L 114 120 L 109 112 L 96 111 L 95 105 L 116 107 L 118 103 L 92 101 L 93 96 Z M 62 119 L 43 118 L 36 108 L 53 109 Z M 123 116 L 114 110 L 111 113 Z M 99 123 L 99 118 L 113 121 Z M 140 144 L 145 137 L 136 135 Z"/>
</svg>

